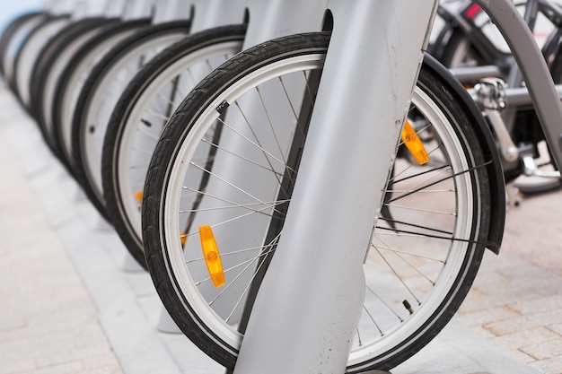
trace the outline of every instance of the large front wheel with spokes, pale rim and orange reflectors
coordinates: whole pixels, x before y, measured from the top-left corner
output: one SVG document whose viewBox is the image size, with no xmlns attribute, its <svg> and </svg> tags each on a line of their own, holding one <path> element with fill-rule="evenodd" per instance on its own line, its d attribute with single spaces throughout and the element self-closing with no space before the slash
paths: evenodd
<svg viewBox="0 0 562 374">
<path fill-rule="evenodd" d="M 181 104 L 150 163 L 149 272 L 184 334 L 226 367 L 241 344 L 248 290 L 283 234 L 328 43 L 329 34 L 305 34 L 233 57 Z M 483 256 L 490 185 L 471 127 L 478 118 L 435 65 L 426 58 L 408 114 L 430 161 L 410 161 L 400 144 L 385 213 L 366 233 L 367 291 L 348 372 L 390 369 L 425 346 L 460 306 Z M 214 232 L 214 254 L 203 254 L 201 230 Z M 209 272 L 218 258 L 224 272 Z"/>
</svg>

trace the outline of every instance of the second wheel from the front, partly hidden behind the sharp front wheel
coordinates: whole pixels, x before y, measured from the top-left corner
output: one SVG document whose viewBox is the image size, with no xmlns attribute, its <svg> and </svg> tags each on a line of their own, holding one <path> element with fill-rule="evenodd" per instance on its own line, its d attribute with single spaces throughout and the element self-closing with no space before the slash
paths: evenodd
<svg viewBox="0 0 562 374">
<path fill-rule="evenodd" d="M 189 91 L 241 50 L 244 25 L 190 35 L 149 61 L 113 109 L 103 141 L 101 179 L 110 222 L 129 253 L 146 267 L 140 202 L 156 140 Z"/>
</svg>

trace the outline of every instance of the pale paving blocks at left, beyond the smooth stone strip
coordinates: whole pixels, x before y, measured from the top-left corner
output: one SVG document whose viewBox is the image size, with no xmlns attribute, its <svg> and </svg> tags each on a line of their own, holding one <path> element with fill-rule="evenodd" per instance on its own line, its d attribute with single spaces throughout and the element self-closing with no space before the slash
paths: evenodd
<svg viewBox="0 0 562 374">
<path fill-rule="evenodd" d="M 11 144 L 7 125 L 19 125 L 21 111 L 13 100 L 0 102 L 0 373 L 121 373 L 90 293 Z"/>
</svg>

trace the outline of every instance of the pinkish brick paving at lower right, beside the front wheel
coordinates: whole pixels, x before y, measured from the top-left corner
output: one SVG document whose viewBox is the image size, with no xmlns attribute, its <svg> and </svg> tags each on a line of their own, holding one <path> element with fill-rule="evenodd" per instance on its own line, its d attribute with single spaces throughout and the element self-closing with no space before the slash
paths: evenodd
<svg viewBox="0 0 562 374">
<path fill-rule="evenodd" d="M 454 317 L 541 373 L 562 373 L 562 191 L 526 196 L 506 219 Z"/>
</svg>

